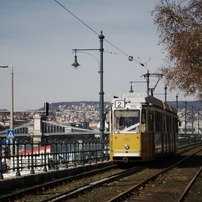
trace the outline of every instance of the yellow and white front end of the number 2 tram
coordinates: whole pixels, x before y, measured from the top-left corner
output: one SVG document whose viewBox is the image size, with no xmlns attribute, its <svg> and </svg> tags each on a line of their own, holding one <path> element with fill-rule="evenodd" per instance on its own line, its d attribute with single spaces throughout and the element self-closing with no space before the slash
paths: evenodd
<svg viewBox="0 0 202 202">
<path fill-rule="evenodd" d="M 142 104 L 145 94 L 125 93 L 112 101 L 110 159 L 134 162 L 142 158 L 141 131 L 144 130 Z"/>
</svg>

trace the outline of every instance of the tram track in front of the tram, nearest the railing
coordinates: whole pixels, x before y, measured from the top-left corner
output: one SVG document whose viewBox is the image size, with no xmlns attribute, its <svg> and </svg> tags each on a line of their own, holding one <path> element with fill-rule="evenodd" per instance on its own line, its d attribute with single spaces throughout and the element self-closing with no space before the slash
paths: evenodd
<svg viewBox="0 0 202 202">
<path fill-rule="evenodd" d="M 130 175 L 143 169 L 143 167 L 136 167 L 123 171 L 119 169 L 117 165 L 112 165 L 102 169 L 78 174 L 76 176 L 22 189 L 20 191 L 14 191 L 11 194 L 1 196 L 0 202 L 19 200 L 29 202 L 60 201 L 62 198 L 65 198 L 63 195 L 71 197 L 72 195 L 76 195 L 77 193 L 79 194 L 80 192 L 86 191 L 93 186 L 99 186 L 102 183 L 109 182 L 115 178 L 118 179 L 118 177 Z"/>
</svg>

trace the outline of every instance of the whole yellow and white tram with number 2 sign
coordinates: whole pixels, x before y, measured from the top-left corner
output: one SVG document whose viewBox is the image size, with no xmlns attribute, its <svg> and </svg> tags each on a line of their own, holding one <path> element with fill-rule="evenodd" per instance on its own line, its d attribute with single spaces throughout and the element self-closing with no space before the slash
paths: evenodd
<svg viewBox="0 0 202 202">
<path fill-rule="evenodd" d="M 110 116 L 112 161 L 151 161 L 177 151 L 177 111 L 161 100 L 145 93 L 121 93 L 112 100 Z"/>
</svg>

